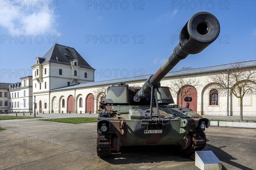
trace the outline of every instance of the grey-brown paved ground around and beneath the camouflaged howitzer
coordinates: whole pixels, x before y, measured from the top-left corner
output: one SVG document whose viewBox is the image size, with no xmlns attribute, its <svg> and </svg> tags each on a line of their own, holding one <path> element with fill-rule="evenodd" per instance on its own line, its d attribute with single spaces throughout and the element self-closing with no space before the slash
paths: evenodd
<svg viewBox="0 0 256 170">
<path fill-rule="evenodd" d="M 96 156 L 96 123 L 66 124 L 37 119 L 1 120 L 0 170 L 187 169 L 195 162 L 174 147 L 125 147 L 102 160 Z M 223 169 L 256 169 L 256 130 L 209 127 L 204 150 Z"/>
</svg>

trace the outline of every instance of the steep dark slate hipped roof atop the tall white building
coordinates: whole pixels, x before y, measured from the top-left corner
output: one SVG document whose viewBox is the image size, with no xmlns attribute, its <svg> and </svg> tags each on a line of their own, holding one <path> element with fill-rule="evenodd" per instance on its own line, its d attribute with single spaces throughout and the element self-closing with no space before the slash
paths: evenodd
<svg viewBox="0 0 256 170">
<path fill-rule="evenodd" d="M 58 60 L 57 60 L 58 56 Z M 85 60 L 84 58 L 76 51 L 75 48 L 67 47 L 65 45 L 55 44 L 52 46 L 44 57 L 39 57 L 40 63 L 46 62 L 54 62 L 64 65 L 71 65 L 70 61 L 77 59 L 78 66 L 82 68 L 93 69 Z M 94 69 L 93 69 L 94 70 Z"/>
</svg>

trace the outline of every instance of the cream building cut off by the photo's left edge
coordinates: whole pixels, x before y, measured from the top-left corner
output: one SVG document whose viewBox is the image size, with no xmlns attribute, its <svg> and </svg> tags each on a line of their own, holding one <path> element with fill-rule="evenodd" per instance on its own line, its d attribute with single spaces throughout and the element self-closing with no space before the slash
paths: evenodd
<svg viewBox="0 0 256 170">
<path fill-rule="evenodd" d="M 0 83 L 0 113 L 9 112 L 9 83 Z"/>
</svg>

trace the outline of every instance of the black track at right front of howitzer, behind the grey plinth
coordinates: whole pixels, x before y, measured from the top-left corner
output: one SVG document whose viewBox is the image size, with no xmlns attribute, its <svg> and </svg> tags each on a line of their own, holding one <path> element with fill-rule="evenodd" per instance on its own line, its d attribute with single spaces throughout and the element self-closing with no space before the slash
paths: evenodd
<svg viewBox="0 0 256 170">
<path fill-rule="evenodd" d="M 189 147 L 187 147 L 184 150 L 181 150 L 181 152 L 184 155 L 189 155 L 189 154 L 193 153 L 195 150 L 202 150 L 206 146 L 206 136 L 203 131 L 192 132 L 189 135 L 191 135 L 191 137 L 192 137 L 192 142 L 189 145 Z"/>
</svg>

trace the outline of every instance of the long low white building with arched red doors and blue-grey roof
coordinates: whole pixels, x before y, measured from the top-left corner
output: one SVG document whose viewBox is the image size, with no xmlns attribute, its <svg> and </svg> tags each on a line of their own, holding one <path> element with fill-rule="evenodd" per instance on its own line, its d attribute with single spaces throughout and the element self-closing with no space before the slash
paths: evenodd
<svg viewBox="0 0 256 170">
<path fill-rule="evenodd" d="M 233 67 L 234 63 L 215 65 L 203 68 L 192 68 L 182 71 L 171 71 L 161 81 L 161 86 L 170 86 L 170 79 L 177 79 L 180 75 L 187 78 L 198 79 L 201 85 L 194 88 L 195 95 L 192 96 L 193 100 L 190 103 L 192 110 L 201 115 L 227 115 L 227 106 L 229 106 L 229 115 L 239 115 L 240 105 L 239 99 L 231 95 L 229 97 L 229 105 L 227 105 L 227 95 L 220 95 L 218 91 L 214 89 L 214 83 L 208 83 L 209 76 L 220 74 L 221 71 L 227 70 Z M 240 62 L 243 68 L 252 67 L 256 71 L 256 60 Z M 95 95 L 93 91 L 96 91 L 100 87 L 108 87 L 113 83 L 125 82 L 130 85 L 141 86 L 148 79 L 150 75 L 144 75 L 140 77 L 129 77 L 122 79 L 105 80 L 100 82 L 89 82 L 80 85 L 74 85 L 72 87 L 64 87 L 50 90 L 50 102 L 51 109 L 55 113 L 63 111 L 67 113 L 97 113 L 98 99 L 101 94 Z M 172 94 L 176 104 L 178 103 L 177 94 Z M 183 105 L 186 103 L 183 102 Z M 251 94 L 245 96 L 243 99 L 243 115 L 244 116 L 256 116 L 256 95 Z"/>
</svg>

